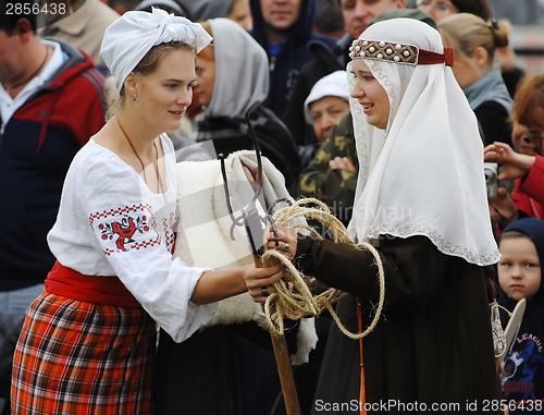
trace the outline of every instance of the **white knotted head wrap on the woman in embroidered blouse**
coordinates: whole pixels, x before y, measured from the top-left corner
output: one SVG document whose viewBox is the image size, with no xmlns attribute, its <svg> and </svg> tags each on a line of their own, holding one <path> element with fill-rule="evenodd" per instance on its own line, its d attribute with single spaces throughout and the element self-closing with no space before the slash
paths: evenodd
<svg viewBox="0 0 544 415">
<path fill-rule="evenodd" d="M 195 45 L 199 52 L 211 40 L 199 24 L 164 10 L 154 8 L 152 13 L 129 11 L 106 29 L 100 57 L 121 90 L 126 77 L 153 46 L 184 41 Z"/>
</svg>

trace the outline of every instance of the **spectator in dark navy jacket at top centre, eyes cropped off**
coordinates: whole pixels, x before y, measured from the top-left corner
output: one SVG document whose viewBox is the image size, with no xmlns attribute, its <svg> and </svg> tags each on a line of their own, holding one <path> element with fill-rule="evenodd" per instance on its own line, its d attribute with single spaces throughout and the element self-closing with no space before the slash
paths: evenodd
<svg viewBox="0 0 544 415">
<path fill-rule="evenodd" d="M 333 47 L 335 41 L 313 33 L 316 0 L 250 0 L 250 5 L 251 35 L 267 51 L 270 61 L 270 90 L 264 103 L 282 117 L 300 68 L 311 59 L 308 42 L 321 40 Z"/>
</svg>

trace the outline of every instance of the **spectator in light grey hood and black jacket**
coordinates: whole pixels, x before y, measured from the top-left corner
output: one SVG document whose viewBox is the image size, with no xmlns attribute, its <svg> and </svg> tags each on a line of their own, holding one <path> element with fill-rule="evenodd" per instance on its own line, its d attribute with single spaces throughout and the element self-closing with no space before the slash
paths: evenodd
<svg viewBox="0 0 544 415">
<path fill-rule="evenodd" d="M 285 176 L 287 186 L 298 176 L 300 159 L 287 127 L 267 107 L 270 75 L 267 52 L 239 25 L 212 19 L 202 26 L 213 36 L 213 47 L 197 58 L 198 100 L 205 110 L 196 119 L 197 142 L 213 142 L 217 154 L 254 149 L 245 113 L 251 121 L 259 147 Z"/>
</svg>

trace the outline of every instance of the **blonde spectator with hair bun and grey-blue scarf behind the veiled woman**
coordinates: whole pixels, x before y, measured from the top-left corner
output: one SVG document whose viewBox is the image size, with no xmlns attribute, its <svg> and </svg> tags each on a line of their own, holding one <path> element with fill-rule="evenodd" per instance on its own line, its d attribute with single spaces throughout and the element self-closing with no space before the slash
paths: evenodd
<svg viewBox="0 0 544 415">
<path fill-rule="evenodd" d="M 480 122 L 484 143 L 511 144 L 512 100 L 494 66 L 496 48 L 508 45 L 505 25 L 457 13 L 440 21 L 438 30 L 444 45 L 454 49 L 454 75 Z"/>
</svg>

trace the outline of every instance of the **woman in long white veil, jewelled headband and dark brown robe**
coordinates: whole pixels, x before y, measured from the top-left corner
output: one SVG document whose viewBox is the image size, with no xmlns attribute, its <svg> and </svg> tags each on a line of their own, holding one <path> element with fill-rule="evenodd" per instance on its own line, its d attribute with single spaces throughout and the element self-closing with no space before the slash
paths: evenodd
<svg viewBox="0 0 544 415">
<path fill-rule="evenodd" d="M 332 328 L 313 411 L 484 413 L 499 396 L 485 272 L 499 254 L 477 120 L 429 25 L 375 23 L 350 56 L 360 171 L 349 231 L 378 248 L 385 304 L 362 342 Z M 337 313 L 363 331 L 379 303 L 373 255 L 286 230 L 280 240 L 306 274 L 348 293 Z"/>
</svg>

